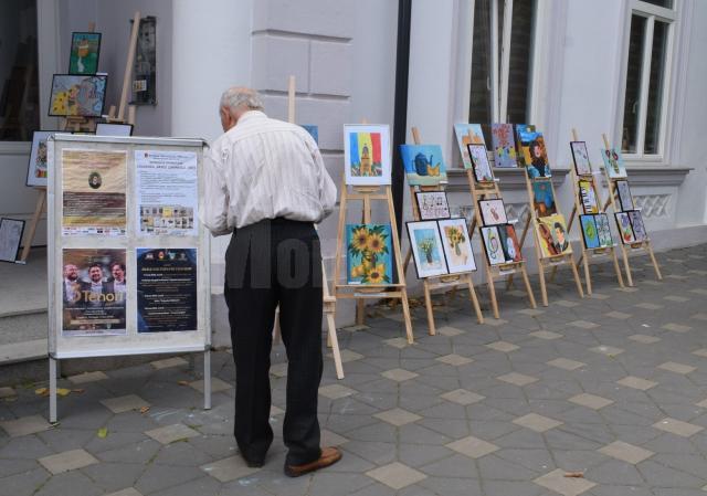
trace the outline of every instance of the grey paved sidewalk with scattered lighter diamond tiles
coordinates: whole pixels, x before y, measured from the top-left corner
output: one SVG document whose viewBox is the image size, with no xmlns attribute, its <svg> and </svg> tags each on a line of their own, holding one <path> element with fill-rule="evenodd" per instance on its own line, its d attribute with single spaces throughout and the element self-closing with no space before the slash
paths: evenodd
<svg viewBox="0 0 707 496">
<path fill-rule="evenodd" d="M 211 411 L 182 359 L 63 379 L 54 428 L 35 394 L 44 384 L 0 389 L 0 496 L 704 496 L 707 245 L 658 260 L 663 282 L 639 257 L 624 291 L 594 267 L 583 300 L 560 271 L 549 307 L 530 310 L 513 291 L 503 320 L 483 326 L 461 295 L 439 307 L 433 337 L 416 308 L 414 346 L 395 314 L 341 330 L 347 376 L 326 361 L 319 412 L 344 460 L 297 479 L 282 472 L 282 365 L 260 471 L 234 448 L 225 352 Z M 273 355 L 282 363 L 283 348 Z"/>
</svg>

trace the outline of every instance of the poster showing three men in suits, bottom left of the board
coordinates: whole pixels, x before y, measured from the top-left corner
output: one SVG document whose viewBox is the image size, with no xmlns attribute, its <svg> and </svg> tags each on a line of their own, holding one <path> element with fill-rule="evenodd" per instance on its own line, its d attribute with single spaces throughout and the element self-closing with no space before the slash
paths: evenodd
<svg viewBox="0 0 707 496">
<path fill-rule="evenodd" d="M 62 335 L 126 334 L 125 250 L 64 249 Z"/>
</svg>

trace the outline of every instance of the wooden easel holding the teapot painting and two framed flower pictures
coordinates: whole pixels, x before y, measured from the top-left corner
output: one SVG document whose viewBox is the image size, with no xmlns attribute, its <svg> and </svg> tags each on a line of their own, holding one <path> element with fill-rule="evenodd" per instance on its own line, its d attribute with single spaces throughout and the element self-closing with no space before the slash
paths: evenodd
<svg viewBox="0 0 707 496">
<path fill-rule="evenodd" d="M 412 139 L 415 145 L 420 145 L 420 131 L 416 127 L 412 128 Z M 418 207 L 418 202 L 415 201 L 415 192 L 416 191 L 444 191 L 444 187 L 442 184 L 439 186 L 419 186 L 419 190 L 415 189 L 414 186 L 410 186 L 410 203 L 412 205 L 412 218 L 415 221 L 420 219 L 420 209 Z M 471 238 L 469 233 L 469 238 Z M 405 254 L 405 261 L 403 263 L 403 273 L 408 273 L 408 266 L 410 264 L 410 257 L 412 255 L 412 249 L 408 249 L 408 253 Z M 434 336 L 436 334 L 436 327 L 434 325 L 434 310 L 432 306 L 432 292 L 436 289 L 456 289 L 458 286 L 468 287 L 469 298 L 472 300 L 472 305 L 474 307 L 474 312 L 476 313 L 476 319 L 478 324 L 484 324 L 484 315 L 482 314 L 482 308 L 478 305 L 478 298 L 476 297 L 476 291 L 474 289 L 474 282 L 472 281 L 472 273 L 460 273 L 460 274 L 451 274 L 451 275 L 440 275 L 432 277 L 424 277 L 422 279 L 422 286 L 424 289 L 424 304 L 428 310 L 428 325 L 429 325 L 429 334 L 430 336 Z"/>
</svg>

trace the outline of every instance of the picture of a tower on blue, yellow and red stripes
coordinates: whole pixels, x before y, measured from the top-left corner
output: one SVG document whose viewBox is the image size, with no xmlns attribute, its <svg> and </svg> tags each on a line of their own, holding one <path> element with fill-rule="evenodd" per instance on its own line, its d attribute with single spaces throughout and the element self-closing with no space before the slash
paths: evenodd
<svg viewBox="0 0 707 496">
<path fill-rule="evenodd" d="M 344 125 L 344 160 L 347 184 L 390 184 L 388 125 Z"/>
</svg>

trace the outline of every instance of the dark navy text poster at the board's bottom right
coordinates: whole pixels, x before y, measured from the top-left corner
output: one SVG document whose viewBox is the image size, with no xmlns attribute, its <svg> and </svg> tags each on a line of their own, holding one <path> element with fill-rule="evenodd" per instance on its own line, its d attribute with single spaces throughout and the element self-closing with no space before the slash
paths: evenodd
<svg viewBox="0 0 707 496">
<path fill-rule="evenodd" d="M 197 330 L 197 249 L 137 249 L 137 330 Z"/>
</svg>

